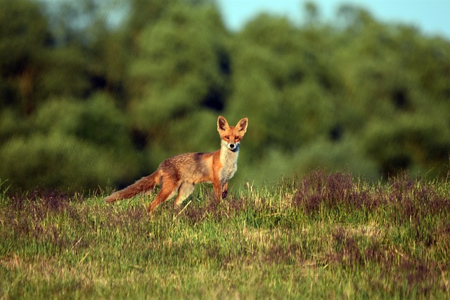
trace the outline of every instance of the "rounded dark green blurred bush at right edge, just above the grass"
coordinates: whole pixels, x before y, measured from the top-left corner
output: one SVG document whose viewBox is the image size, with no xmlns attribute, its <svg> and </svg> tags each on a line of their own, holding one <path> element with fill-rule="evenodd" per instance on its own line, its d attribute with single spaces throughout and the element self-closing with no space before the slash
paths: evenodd
<svg viewBox="0 0 450 300">
<path fill-rule="evenodd" d="M 372 122 L 363 141 L 364 150 L 385 176 L 405 169 L 431 177 L 447 174 L 450 128 L 444 119 L 404 115 L 390 122 Z"/>
</svg>

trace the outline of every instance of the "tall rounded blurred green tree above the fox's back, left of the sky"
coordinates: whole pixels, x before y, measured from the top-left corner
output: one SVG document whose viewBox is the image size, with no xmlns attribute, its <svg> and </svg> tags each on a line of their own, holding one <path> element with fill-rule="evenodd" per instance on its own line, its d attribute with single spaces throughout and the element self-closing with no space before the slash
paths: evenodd
<svg viewBox="0 0 450 300">
<path fill-rule="evenodd" d="M 167 136 L 167 125 L 184 122 L 199 110 L 224 107 L 227 37 L 214 6 L 179 2 L 166 8 L 163 17 L 143 27 L 137 39 L 138 52 L 129 72 L 129 115 L 146 141 L 186 150 L 194 144 Z M 195 131 L 204 137 L 211 126 Z"/>
</svg>

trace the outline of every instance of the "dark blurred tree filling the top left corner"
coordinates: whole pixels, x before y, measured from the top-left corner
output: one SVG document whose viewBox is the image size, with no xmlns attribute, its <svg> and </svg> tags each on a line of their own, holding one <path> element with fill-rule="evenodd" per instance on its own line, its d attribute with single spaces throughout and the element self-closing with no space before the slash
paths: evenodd
<svg viewBox="0 0 450 300">
<path fill-rule="evenodd" d="M 49 42 L 47 20 L 37 2 L 0 0 L 0 107 L 15 107 L 24 115 L 34 110 Z"/>
</svg>

